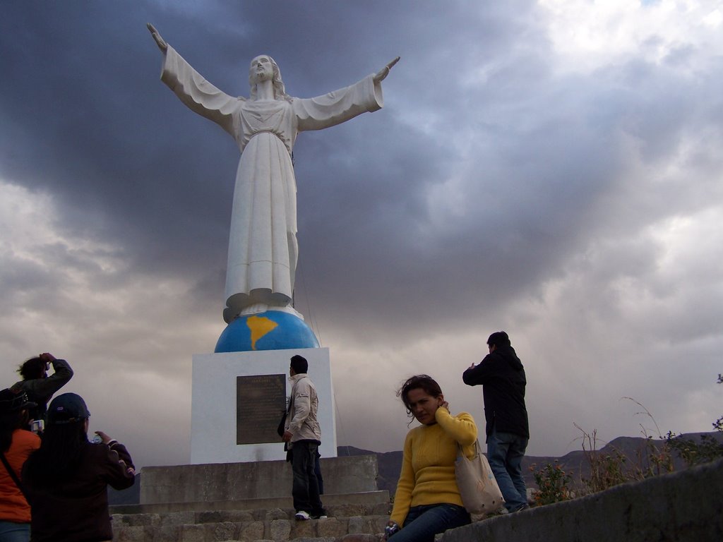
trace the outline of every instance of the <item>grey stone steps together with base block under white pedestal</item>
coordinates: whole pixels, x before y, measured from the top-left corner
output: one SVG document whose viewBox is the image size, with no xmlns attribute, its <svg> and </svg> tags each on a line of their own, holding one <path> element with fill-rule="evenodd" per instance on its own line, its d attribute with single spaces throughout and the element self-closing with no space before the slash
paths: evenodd
<svg viewBox="0 0 723 542">
<path fill-rule="evenodd" d="M 322 458 L 328 512 L 297 521 L 285 461 L 146 467 L 140 503 L 111 507 L 114 542 L 377 542 L 389 492 L 376 456 Z"/>
</svg>

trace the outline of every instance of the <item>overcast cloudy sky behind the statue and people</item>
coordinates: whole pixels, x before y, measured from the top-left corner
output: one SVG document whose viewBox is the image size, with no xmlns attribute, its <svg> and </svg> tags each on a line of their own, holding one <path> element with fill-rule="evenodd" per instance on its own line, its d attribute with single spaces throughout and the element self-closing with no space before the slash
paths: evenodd
<svg viewBox="0 0 723 542">
<path fill-rule="evenodd" d="M 231 95 L 261 53 L 302 98 L 401 56 L 381 111 L 294 149 L 296 307 L 330 349 L 338 444 L 401 449 L 418 373 L 482 425 L 461 374 L 496 330 L 530 455 L 579 449 L 573 423 L 657 436 L 623 397 L 662 434 L 723 413 L 722 1 L 4 2 L 4 386 L 67 358 L 91 429 L 189 461 L 239 154 L 160 81 L 146 22 Z"/>
</svg>

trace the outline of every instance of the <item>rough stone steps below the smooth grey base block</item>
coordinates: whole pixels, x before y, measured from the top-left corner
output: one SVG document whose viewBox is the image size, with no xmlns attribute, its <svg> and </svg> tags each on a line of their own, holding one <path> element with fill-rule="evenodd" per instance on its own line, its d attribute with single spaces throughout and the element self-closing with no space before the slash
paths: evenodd
<svg viewBox="0 0 723 542">
<path fill-rule="evenodd" d="M 328 518 L 309 521 L 295 520 L 294 509 L 290 507 L 239 509 L 239 505 L 243 507 L 244 503 L 238 501 L 232 504 L 218 503 L 221 509 L 213 509 L 213 503 L 202 503 L 203 506 L 199 503 L 199 506 L 195 507 L 183 503 L 187 508 L 205 509 L 176 511 L 168 507 L 153 511 L 143 505 L 135 505 L 136 509 L 111 507 L 113 540 L 114 542 L 292 540 L 377 542 L 383 538 L 382 533 L 389 520 L 390 504 L 387 491 L 373 493 L 377 495 L 372 499 L 359 499 L 359 494 L 325 496 Z M 232 506 L 236 509 L 224 509 Z"/>
</svg>

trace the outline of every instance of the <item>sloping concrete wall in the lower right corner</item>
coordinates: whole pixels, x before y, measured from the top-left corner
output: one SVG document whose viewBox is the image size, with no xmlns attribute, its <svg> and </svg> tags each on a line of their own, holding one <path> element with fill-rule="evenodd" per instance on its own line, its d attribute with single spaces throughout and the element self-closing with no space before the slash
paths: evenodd
<svg viewBox="0 0 723 542">
<path fill-rule="evenodd" d="M 723 460 L 450 530 L 442 542 L 720 542 Z"/>
</svg>

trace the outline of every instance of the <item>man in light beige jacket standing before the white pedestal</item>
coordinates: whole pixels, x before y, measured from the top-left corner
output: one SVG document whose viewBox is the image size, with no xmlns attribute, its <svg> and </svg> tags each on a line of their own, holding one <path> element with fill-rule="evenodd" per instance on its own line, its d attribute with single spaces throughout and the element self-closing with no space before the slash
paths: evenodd
<svg viewBox="0 0 723 542">
<path fill-rule="evenodd" d="M 294 484 L 291 496 L 297 520 L 309 520 L 326 515 L 319 496 L 315 463 L 321 444 L 321 428 L 317 421 L 319 399 L 314 382 L 307 375 L 309 364 L 301 356 L 291 358 L 291 398 L 288 404 L 283 441 L 291 449 L 291 469 Z"/>
</svg>

